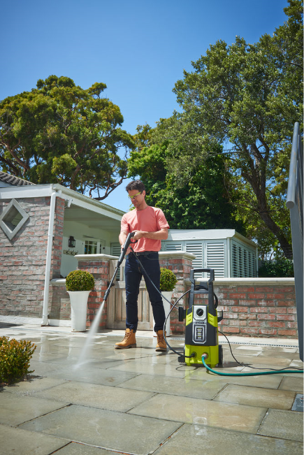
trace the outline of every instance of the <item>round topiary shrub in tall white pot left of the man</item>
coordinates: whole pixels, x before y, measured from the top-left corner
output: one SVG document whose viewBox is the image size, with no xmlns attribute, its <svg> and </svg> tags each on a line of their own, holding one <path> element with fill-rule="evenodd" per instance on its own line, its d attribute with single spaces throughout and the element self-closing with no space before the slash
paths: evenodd
<svg viewBox="0 0 304 455">
<path fill-rule="evenodd" d="M 94 284 L 94 276 L 85 270 L 73 270 L 66 277 L 66 290 L 71 301 L 72 331 L 84 332 L 86 329 L 87 299 Z"/>
</svg>

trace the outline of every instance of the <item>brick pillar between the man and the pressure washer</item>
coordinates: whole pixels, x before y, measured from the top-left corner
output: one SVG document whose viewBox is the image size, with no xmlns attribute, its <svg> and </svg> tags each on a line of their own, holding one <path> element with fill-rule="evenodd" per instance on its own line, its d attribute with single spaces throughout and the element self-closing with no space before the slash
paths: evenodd
<svg viewBox="0 0 304 455">
<path fill-rule="evenodd" d="M 160 266 L 172 270 L 178 279 L 173 291 L 174 301 L 177 301 L 178 298 L 180 298 L 180 296 L 182 296 L 182 294 L 189 289 L 189 284 L 186 284 L 186 280 L 189 280 L 193 259 L 195 259 L 194 254 L 184 251 L 159 252 Z M 180 300 L 178 306 L 187 308 L 187 302 L 188 296 L 184 296 L 184 298 Z M 178 321 L 178 308 L 174 308 L 172 310 L 170 315 L 170 324 L 173 334 L 180 335 L 181 333 L 184 333 L 184 321 Z"/>
</svg>

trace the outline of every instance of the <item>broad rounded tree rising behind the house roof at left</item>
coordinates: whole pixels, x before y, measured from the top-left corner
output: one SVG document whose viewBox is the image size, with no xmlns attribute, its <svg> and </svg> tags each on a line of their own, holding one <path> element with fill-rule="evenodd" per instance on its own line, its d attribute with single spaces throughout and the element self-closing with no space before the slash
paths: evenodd
<svg viewBox="0 0 304 455">
<path fill-rule="evenodd" d="M 31 92 L 1 101 L 2 170 L 106 198 L 126 178 L 126 154 L 134 143 L 120 128 L 120 108 L 101 97 L 104 89 L 98 82 L 82 89 L 51 75 Z"/>
</svg>

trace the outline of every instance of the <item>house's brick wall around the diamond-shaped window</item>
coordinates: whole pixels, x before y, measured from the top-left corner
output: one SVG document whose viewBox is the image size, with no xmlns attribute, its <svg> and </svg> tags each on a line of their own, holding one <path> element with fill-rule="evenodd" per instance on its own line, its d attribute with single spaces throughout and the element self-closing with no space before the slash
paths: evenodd
<svg viewBox="0 0 304 455">
<path fill-rule="evenodd" d="M 8 240 L 0 229 L 0 314 L 41 317 L 50 197 L 16 198 L 16 201 L 29 219 L 13 240 Z M 0 212 L 9 202 L 0 201 Z M 56 198 L 51 278 L 60 276 L 63 217 L 64 200 Z"/>
</svg>

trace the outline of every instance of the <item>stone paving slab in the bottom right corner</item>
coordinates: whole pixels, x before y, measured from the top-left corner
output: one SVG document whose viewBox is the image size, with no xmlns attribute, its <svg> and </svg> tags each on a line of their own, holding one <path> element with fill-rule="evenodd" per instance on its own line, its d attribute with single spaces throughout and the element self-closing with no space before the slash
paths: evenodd
<svg viewBox="0 0 304 455">
<path fill-rule="evenodd" d="M 302 455 L 304 444 L 208 426 L 182 426 L 153 455 Z"/>
</svg>

